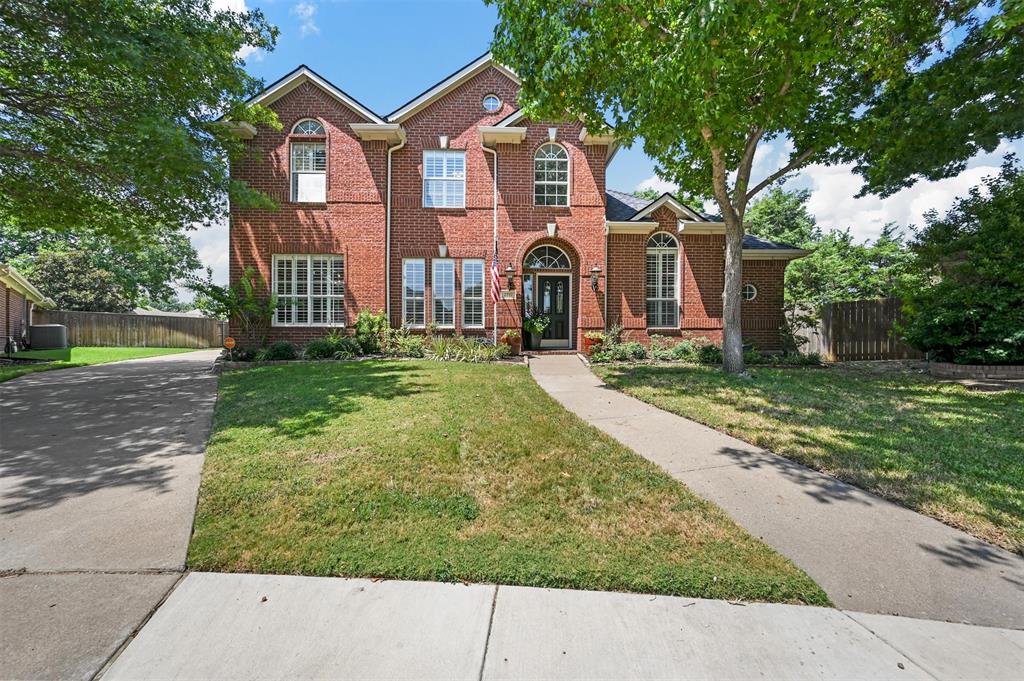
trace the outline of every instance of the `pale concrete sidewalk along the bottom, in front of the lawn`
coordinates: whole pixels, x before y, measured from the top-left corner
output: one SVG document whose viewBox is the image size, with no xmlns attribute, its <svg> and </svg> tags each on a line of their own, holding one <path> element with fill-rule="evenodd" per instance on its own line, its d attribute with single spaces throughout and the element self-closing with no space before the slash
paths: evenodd
<svg viewBox="0 0 1024 681">
<path fill-rule="evenodd" d="M 188 574 L 120 679 L 1017 679 L 1024 632 L 799 605 Z"/>
</svg>

